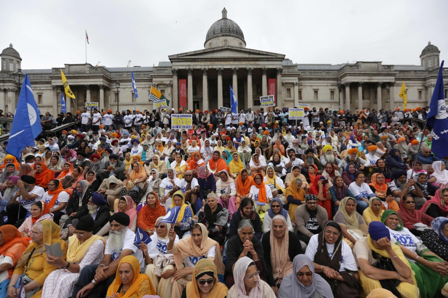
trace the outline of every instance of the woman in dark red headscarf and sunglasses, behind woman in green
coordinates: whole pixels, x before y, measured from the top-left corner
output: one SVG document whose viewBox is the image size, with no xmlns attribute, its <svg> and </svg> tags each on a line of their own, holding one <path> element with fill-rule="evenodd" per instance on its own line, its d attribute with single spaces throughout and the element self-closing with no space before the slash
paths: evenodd
<svg viewBox="0 0 448 298">
<path fill-rule="evenodd" d="M 417 237 L 422 235 L 423 227 L 417 229 L 414 224 L 426 224 L 430 227 L 431 222 L 434 220 L 434 218 L 423 213 L 422 210 L 416 210 L 414 198 L 408 195 L 403 196 L 400 200 L 398 216 L 403 221 L 403 226 Z"/>
</svg>

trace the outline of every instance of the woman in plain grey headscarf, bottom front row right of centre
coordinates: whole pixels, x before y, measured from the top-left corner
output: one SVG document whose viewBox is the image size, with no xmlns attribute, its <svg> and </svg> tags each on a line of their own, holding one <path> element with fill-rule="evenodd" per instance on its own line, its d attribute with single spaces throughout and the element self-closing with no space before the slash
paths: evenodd
<svg viewBox="0 0 448 298">
<path fill-rule="evenodd" d="M 278 298 L 334 298 L 330 285 L 315 273 L 313 261 L 306 255 L 294 257 L 293 272 L 283 278 Z"/>
</svg>

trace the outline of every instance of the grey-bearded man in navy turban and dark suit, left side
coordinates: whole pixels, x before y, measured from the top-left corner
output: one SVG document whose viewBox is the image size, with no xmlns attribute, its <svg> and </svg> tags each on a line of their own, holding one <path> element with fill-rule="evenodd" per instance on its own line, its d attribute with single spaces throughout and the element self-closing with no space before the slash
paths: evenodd
<svg viewBox="0 0 448 298">
<path fill-rule="evenodd" d="M 69 230 L 69 234 L 67 236 L 73 235 L 79 219 L 86 215 L 90 215 L 94 219 L 94 224 L 91 227 L 93 234 L 98 233 L 101 228 L 108 223 L 109 218 L 111 217 L 110 209 L 108 202 L 101 194 L 97 192 L 92 193 L 92 197 L 89 198 L 87 205 L 85 205 L 81 211 L 77 212 L 74 216 L 67 219 L 65 226 L 63 227 L 68 228 Z"/>
</svg>

